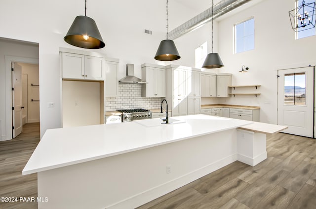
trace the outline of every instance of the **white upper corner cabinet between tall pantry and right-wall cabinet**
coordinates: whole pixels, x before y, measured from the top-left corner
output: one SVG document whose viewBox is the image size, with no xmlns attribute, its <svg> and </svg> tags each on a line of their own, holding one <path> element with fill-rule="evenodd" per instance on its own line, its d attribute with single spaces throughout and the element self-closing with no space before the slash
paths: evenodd
<svg viewBox="0 0 316 209">
<path fill-rule="evenodd" d="M 201 96 L 216 97 L 217 81 L 215 73 L 201 73 Z"/>
</svg>

